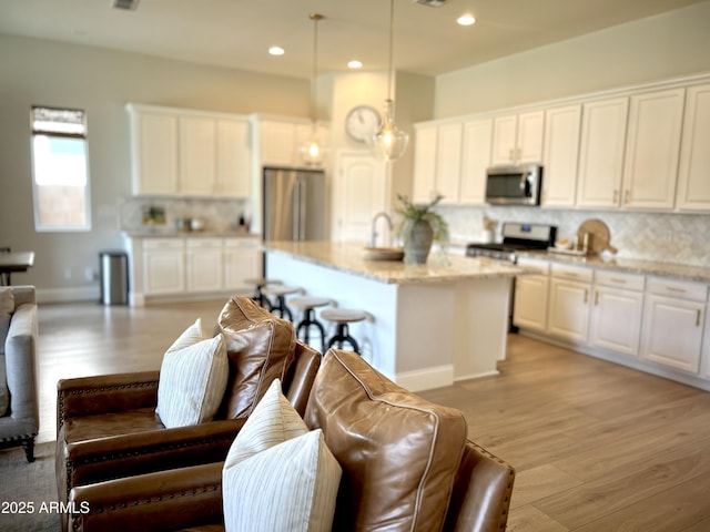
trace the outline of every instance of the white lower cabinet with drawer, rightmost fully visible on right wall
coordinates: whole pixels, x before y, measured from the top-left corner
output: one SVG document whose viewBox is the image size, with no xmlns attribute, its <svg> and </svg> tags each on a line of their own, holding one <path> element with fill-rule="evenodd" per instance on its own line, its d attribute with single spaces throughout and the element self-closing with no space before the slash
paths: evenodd
<svg viewBox="0 0 710 532">
<path fill-rule="evenodd" d="M 649 278 L 641 358 L 698 374 L 707 299 L 707 285 Z"/>
</svg>

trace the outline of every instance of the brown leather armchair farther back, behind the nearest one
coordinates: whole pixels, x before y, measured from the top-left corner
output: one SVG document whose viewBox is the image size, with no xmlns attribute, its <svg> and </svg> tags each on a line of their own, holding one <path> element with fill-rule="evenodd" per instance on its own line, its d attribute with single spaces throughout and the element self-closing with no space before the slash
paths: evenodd
<svg viewBox="0 0 710 532">
<path fill-rule="evenodd" d="M 274 378 L 305 411 L 322 355 L 295 338 L 293 325 L 250 298 L 233 298 L 217 324 L 229 338 L 247 330 L 248 346 L 230 350 L 230 380 L 216 420 L 165 428 L 155 413 L 159 371 L 61 380 L 57 400 L 57 488 L 60 501 L 78 485 L 185 466 L 220 462 L 251 408 Z"/>
</svg>

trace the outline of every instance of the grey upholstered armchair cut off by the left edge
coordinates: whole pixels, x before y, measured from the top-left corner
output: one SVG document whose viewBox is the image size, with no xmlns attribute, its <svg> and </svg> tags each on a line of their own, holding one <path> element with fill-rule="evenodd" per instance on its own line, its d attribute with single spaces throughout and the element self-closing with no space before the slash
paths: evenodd
<svg viewBox="0 0 710 532">
<path fill-rule="evenodd" d="M 34 438 L 39 430 L 39 399 L 37 393 L 37 303 L 33 286 L 12 286 L 14 308 L 7 329 L 0 334 L 4 349 L 0 349 L 3 371 L 0 378 L 7 390 L 9 406 L 0 416 L 0 446 L 22 444 L 28 462 L 34 461 Z M 4 355 L 3 355 L 4 352 Z"/>
</svg>

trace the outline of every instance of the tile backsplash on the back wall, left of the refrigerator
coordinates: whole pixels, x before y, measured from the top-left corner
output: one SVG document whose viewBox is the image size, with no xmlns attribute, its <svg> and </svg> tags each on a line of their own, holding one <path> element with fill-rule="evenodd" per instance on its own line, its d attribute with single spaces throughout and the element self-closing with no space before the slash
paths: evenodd
<svg viewBox="0 0 710 532">
<path fill-rule="evenodd" d="M 144 213 L 164 212 L 164 225 L 146 225 Z M 251 205 L 245 200 L 182 198 L 182 197 L 124 197 L 119 202 L 121 231 L 175 231 L 182 218 L 200 218 L 205 231 L 225 233 L 235 231 L 240 216 L 251 219 Z"/>
</svg>

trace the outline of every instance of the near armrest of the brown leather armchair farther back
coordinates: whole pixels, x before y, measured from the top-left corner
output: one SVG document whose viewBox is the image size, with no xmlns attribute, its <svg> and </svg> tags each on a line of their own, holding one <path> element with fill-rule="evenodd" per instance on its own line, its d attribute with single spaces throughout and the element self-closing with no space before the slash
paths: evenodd
<svg viewBox="0 0 710 532">
<path fill-rule="evenodd" d="M 212 421 L 68 443 L 57 456 L 60 495 L 62 485 L 67 489 L 63 499 L 77 485 L 224 461 L 245 421 Z"/>
</svg>

